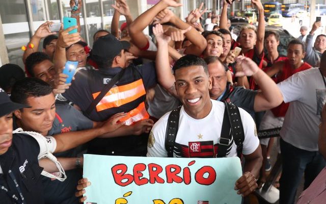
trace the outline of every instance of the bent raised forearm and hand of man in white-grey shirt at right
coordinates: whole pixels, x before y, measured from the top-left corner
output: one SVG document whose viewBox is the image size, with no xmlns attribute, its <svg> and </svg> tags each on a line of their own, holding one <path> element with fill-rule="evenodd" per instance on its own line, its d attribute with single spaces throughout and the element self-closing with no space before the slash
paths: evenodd
<svg viewBox="0 0 326 204">
<path fill-rule="evenodd" d="M 255 96 L 254 111 L 265 111 L 279 106 L 283 101 L 283 95 L 275 82 L 251 59 L 239 56 L 237 59 L 242 67 L 242 72 L 236 72 L 237 77 L 243 75 L 252 76 L 260 87 L 260 91 Z"/>
</svg>

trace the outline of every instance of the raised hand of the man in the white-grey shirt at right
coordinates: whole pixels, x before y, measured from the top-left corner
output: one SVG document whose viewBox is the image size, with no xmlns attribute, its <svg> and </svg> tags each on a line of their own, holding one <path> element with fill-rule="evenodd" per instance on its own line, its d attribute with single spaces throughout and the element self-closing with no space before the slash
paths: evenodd
<svg viewBox="0 0 326 204">
<path fill-rule="evenodd" d="M 257 64 L 252 61 L 248 57 L 244 57 L 242 55 L 236 58 L 236 66 L 242 68 L 242 70 L 238 70 L 235 73 L 235 77 L 243 77 L 243 76 L 252 76 L 259 71 L 259 67 Z"/>
</svg>

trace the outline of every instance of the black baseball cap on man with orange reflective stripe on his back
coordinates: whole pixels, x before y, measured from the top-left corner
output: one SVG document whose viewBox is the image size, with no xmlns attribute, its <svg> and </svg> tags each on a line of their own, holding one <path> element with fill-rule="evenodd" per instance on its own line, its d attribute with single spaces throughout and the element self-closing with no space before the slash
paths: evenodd
<svg viewBox="0 0 326 204">
<path fill-rule="evenodd" d="M 93 44 L 92 57 L 100 59 L 113 59 L 122 49 L 128 49 L 128 41 L 120 41 L 114 35 L 107 34 L 99 37 Z"/>
</svg>

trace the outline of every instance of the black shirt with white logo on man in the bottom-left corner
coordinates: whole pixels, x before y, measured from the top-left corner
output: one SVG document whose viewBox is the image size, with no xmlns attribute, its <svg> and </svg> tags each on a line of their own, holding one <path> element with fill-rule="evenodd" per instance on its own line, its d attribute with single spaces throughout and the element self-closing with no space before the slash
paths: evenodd
<svg viewBox="0 0 326 204">
<path fill-rule="evenodd" d="M 44 203 L 41 180 L 43 168 L 38 163 L 39 153 L 39 144 L 33 137 L 13 134 L 11 147 L 0 156 L 0 166 L 4 172 L 0 174 L 0 186 L 4 186 L 8 191 L 17 195 L 18 201 L 0 188 L 1 203 L 21 203 L 18 188 L 24 197 L 24 203 Z M 9 170 L 17 180 L 18 187 L 9 175 Z"/>
</svg>

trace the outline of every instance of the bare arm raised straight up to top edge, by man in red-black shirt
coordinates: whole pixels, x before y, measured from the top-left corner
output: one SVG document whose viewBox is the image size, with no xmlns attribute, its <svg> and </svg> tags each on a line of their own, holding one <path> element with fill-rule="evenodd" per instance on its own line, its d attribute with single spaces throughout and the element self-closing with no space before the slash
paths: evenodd
<svg viewBox="0 0 326 204">
<path fill-rule="evenodd" d="M 264 36 L 265 36 L 265 18 L 264 18 L 264 7 L 260 0 L 251 0 L 251 3 L 258 9 L 258 27 L 257 27 L 257 40 L 256 50 L 257 54 L 260 55 L 264 49 Z"/>
</svg>

